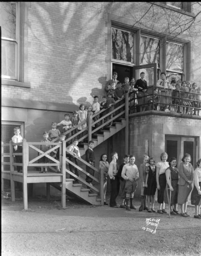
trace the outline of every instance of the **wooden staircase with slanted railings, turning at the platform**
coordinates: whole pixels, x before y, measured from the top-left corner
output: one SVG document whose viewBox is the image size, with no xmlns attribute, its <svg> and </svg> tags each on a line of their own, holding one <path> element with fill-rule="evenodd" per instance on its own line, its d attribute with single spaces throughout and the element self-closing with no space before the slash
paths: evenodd
<svg viewBox="0 0 201 256">
<path fill-rule="evenodd" d="M 94 148 L 100 145 L 102 142 L 104 142 L 105 140 L 107 140 L 108 138 L 110 138 L 127 126 L 128 101 L 128 97 L 126 96 L 125 99 L 116 101 L 115 106 L 112 110 L 110 109 L 109 111 L 109 109 L 103 109 L 102 111 L 99 111 L 99 113 L 96 113 L 93 116 L 89 116 L 87 127 L 85 129 L 82 129 L 81 131 L 78 131 L 76 134 L 65 140 L 64 144 L 70 143 L 74 137 L 79 136 L 78 141 L 82 142 L 78 145 L 81 156 L 83 156 L 85 154 L 85 151 L 88 149 L 88 141 L 94 141 Z M 113 115 L 112 118 L 110 118 L 111 114 Z M 93 119 L 96 116 L 98 116 L 99 119 L 93 122 Z M 110 126 L 111 122 L 112 125 Z M 82 123 L 85 123 L 85 121 L 81 122 L 79 125 L 82 125 Z M 94 125 L 96 125 L 95 128 L 93 128 Z M 97 125 L 99 126 L 97 127 Z M 78 125 L 71 128 L 71 130 L 65 132 L 64 134 L 68 134 L 69 132 L 74 131 L 77 127 Z M 54 139 L 52 142 L 55 142 L 58 139 L 59 138 Z M 68 151 L 65 145 L 63 145 L 62 152 L 67 152 L 67 154 L 71 154 L 73 156 L 73 154 Z M 63 153 L 63 156 L 64 155 L 65 153 Z M 78 157 L 75 158 L 77 158 L 78 161 L 81 161 L 82 164 L 90 166 L 85 160 L 79 159 Z M 99 179 L 96 179 L 95 177 L 89 175 L 93 179 L 93 183 L 96 183 L 96 185 L 91 185 L 87 183 L 82 177 L 78 177 L 73 172 L 71 172 L 69 167 L 66 168 L 66 165 L 69 166 L 69 163 L 77 168 L 79 170 L 79 173 L 83 173 L 84 176 L 89 175 L 88 172 L 82 169 L 79 165 L 72 163 L 68 159 L 68 157 L 63 157 L 62 166 L 65 170 L 65 173 L 68 173 L 71 176 L 75 177 L 77 180 L 79 180 L 79 184 L 74 184 L 74 179 L 65 179 L 65 193 L 70 196 L 76 196 L 78 198 L 81 198 L 82 200 L 87 201 L 88 203 L 93 205 L 103 205 L 103 174 L 100 174 L 99 170 L 93 167 L 92 169 L 94 169 L 95 172 L 99 173 Z M 51 183 L 51 185 L 59 189 L 60 191 L 62 190 L 62 183 Z M 85 188 L 84 186 L 86 186 L 87 188 Z M 95 191 L 93 194 L 89 193 L 89 187 L 93 191 Z"/>
</svg>

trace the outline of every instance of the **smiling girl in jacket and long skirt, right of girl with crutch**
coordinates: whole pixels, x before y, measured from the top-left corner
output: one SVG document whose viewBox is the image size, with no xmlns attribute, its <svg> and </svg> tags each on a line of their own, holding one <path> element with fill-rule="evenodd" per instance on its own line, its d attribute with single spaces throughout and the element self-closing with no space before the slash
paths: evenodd
<svg viewBox="0 0 201 256">
<path fill-rule="evenodd" d="M 182 162 L 179 166 L 179 179 L 178 179 L 178 204 L 181 207 L 181 216 L 189 217 L 187 214 L 188 197 L 192 190 L 193 183 L 193 166 L 190 163 L 190 154 L 184 154 Z"/>
</svg>

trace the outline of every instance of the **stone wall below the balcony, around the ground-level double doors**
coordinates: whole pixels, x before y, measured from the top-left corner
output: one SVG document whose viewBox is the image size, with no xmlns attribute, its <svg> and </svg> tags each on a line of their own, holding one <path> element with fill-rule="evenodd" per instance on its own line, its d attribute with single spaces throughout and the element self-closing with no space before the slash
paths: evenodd
<svg viewBox="0 0 201 256">
<path fill-rule="evenodd" d="M 136 156 L 136 164 L 142 163 L 145 140 L 149 141 L 149 155 L 160 160 L 165 151 L 165 135 L 197 137 L 201 139 L 201 120 L 176 116 L 133 116 L 129 122 L 130 154 Z M 198 143 L 198 158 L 201 146 Z"/>
</svg>

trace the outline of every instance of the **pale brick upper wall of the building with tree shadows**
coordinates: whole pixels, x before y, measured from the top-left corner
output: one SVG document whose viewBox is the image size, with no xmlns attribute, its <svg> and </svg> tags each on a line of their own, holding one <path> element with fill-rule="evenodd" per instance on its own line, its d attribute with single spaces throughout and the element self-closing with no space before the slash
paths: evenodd
<svg viewBox="0 0 201 256">
<path fill-rule="evenodd" d="M 193 5 L 193 12 L 200 9 L 199 5 Z M 28 55 L 25 70 L 31 88 L 2 86 L 2 96 L 76 105 L 91 103 L 93 95 L 104 94 L 105 81 L 110 78 L 108 14 L 127 17 L 136 27 L 164 33 L 167 25 L 164 12 L 175 17 L 181 15 L 146 2 L 31 2 L 25 41 Z M 181 38 L 192 43 L 192 79 L 199 84 L 201 36 L 196 34 L 197 27 L 191 30 L 192 36 L 185 31 Z"/>
</svg>

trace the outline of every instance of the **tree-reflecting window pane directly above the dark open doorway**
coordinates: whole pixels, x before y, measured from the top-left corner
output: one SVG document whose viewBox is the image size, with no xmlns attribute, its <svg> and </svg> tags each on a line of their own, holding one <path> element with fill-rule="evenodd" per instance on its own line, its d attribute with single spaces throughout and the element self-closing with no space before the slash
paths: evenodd
<svg viewBox="0 0 201 256">
<path fill-rule="evenodd" d="M 133 62 L 133 34 L 112 28 L 112 58 Z"/>
</svg>

